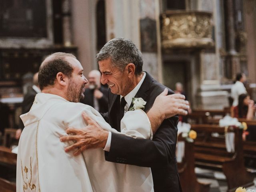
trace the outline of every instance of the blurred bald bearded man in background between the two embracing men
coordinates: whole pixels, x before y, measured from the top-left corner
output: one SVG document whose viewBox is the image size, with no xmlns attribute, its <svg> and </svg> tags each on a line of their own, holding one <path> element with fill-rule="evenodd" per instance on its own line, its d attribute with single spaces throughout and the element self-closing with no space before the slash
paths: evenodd
<svg viewBox="0 0 256 192">
<path fill-rule="evenodd" d="M 86 88 L 81 103 L 92 106 L 100 113 L 106 113 L 108 111 L 108 88 L 101 86 L 100 77 L 98 70 L 90 71 L 89 87 Z"/>
</svg>

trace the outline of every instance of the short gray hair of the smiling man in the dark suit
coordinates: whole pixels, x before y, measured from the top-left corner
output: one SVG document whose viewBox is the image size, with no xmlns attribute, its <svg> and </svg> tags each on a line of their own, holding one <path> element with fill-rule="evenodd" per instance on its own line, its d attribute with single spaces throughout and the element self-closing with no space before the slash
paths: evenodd
<svg viewBox="0 0 256 192">
<path fill-rule="evenodd" d="M 130 39 L 114 38 L 107 42 L 96 55 L 96 60 L 110 58 L 112 65 L 124 71 L 127 64 L 135 65 L 135 75 L 142 73 L 143 59 L 138 47 Z"/>
</svg>

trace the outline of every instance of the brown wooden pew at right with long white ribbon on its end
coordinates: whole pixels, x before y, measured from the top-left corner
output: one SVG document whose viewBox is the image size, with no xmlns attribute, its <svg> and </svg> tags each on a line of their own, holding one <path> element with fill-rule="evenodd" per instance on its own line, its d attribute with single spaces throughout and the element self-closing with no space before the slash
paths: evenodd
<svg viewBox="0 0 256 192">
<path fill-rule="evenodd" d="M 222 170 L 226 176 L 228 192 L 235 191 L 239 186 L 248 187 L 254 184 L 254 176 L 244 166 L 243 130 L 233 126 L 224 128 L 208 124 L 192 125 L 191 129 L 197 132 L 194 142 L 196 166 Z M 226 132 L 235 134 L 234 152 L 226 151 Z M 219 136 L 213 137 L 212 133 L 218 133 Z"/>
</svg>

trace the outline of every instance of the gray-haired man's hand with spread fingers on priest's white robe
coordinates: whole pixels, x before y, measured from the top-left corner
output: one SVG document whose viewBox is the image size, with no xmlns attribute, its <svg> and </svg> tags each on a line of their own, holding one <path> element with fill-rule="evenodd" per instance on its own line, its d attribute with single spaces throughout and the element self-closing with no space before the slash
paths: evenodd
<svg viewBox="0 0 256 192">
<path fill-rule="evenodd" d="M 61 142 L 75 141 L 76 143 L 65 148 L 66 152 L 77 149 L 74 155 L 81 154 L 86 149 L 104 148 L 108 139 L 108 131 L 103 130 L 90 116 L 82 113 L 84 121 L 87 122 L 85 128 L 77 129 L 70 127 L 66 130 L 67 134 L 73 134 L 60 137 Z"/>
</svg>

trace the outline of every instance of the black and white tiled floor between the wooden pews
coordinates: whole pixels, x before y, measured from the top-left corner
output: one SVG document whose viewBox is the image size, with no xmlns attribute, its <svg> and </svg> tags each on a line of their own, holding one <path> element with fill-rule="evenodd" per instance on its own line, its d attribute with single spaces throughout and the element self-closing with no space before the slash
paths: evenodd
<svg viewBox="0 0 256 192">
<path fill-rule="evenodd" d="M 222 172 L 196 168 L 196 175 L 198 181 L 204 183 L 210 183 L 210 192 L 226 192 L 228 187 L 226 183 L 226 177 Z M 256 174 L 255 174 L 256 176 Z M 246 190 L 252 189 L 256 192 L 256 177 L 254 178 L 254 186 L 246 188 Z"/>
</svg>

